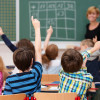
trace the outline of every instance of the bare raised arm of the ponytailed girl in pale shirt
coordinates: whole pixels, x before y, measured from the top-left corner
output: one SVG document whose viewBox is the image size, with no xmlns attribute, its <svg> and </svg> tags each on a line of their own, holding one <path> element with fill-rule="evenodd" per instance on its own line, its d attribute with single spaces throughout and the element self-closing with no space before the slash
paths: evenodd
<svg viewBox="0 0 100 100">
<path fill-rule="evenodd" d="M 46 48 L 48 46 L 48 43 L 49 43 L 52 33 L 53 33 L 53 28 L 52 28 L 52 26 L 50 26 L 49 29 L 47 30 L 47 36 L 46 36 L 46 39 L 44 42 L 44 48 L 43 48 L 44 51 L 46 50 Z"/>
</svg>

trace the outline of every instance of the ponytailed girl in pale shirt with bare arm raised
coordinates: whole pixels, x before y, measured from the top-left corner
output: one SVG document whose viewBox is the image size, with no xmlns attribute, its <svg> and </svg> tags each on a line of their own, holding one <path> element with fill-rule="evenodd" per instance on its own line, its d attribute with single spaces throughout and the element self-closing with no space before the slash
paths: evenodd
<svg viewBox="0 0 100 100">
<path fill-rule="evenodd" d="M 58 56 L 58 47 L 55 44 L 48 45 L 52 33 L 53 29 L 50 26 L 44 42 L 44 52 L 42 52 L 43 74 L 58 74 L 61 69 L 60 60 L 56 59 Z"/>
</svg>

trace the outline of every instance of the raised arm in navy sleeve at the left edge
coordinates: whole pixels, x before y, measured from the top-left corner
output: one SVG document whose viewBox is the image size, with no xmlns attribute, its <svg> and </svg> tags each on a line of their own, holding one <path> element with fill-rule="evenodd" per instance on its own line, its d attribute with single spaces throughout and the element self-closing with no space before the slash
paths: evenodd
<svg viewBox="0 0 100 100">
<path fill-rule="evenodd" d="M 7 36 L 3 33 L 3 30 L 2 30 L 1 27 L 0 27 L 0 36 L 1 36 L 1 38 L 3 39 L 3 41 L 5 42 L 5 44 L 9 47 L 9 49 L 10 49 L 12 52 L 14 52 L 14 51 L 17 49 L 17 47 L 14 46 L 14 45 L 11 43 L 11 41 L 7 38 Z"/>
</svg>

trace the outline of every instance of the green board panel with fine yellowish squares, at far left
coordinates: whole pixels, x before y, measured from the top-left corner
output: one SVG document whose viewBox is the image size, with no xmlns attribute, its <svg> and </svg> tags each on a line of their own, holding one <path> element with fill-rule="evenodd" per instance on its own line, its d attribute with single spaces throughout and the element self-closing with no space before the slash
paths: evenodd
<svg viewBox="0 0 100 100">
<path fill-rule="evenodd" d="M 16 41 L 16 0 L 0 0 L 0 26 L 11 41 Z"/>
</svg>

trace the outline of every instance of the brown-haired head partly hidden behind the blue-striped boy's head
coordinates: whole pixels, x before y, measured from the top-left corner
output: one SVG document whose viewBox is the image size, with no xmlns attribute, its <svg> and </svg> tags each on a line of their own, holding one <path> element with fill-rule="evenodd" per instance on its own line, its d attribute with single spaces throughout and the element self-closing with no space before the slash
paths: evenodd
<svg viewBox="0 0 100 100">
<path fill-rule="evenodd" d="M 34 47 L 33 43 L 30 40 L 28 40 L 28 39 L 21 39 L 16 44 L 16 47 L 17 48 L 28 48 L 28 49 L 32 50 L 32 52 L 35 54 L 35 47 Z"/>
</svg>

